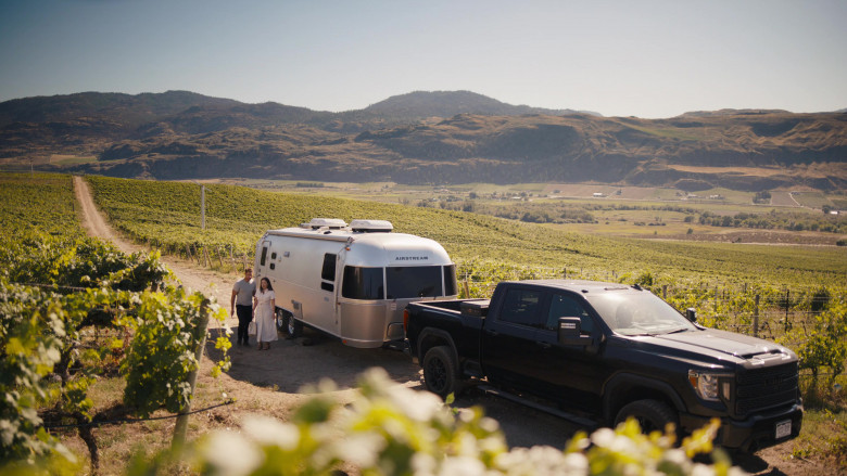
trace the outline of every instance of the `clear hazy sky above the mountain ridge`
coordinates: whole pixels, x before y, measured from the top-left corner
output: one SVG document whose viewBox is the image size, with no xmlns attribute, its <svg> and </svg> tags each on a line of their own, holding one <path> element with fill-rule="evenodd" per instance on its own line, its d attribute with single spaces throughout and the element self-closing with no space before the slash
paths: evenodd
<svg viewBox="0 0 847 476">
<path fill-rule="evenodd" d="M 189 90 L 357 110 L 412 91 L 671 117 L 847 107 L 847 1 L 0 0 L 0 101 Z"/>
</svg>

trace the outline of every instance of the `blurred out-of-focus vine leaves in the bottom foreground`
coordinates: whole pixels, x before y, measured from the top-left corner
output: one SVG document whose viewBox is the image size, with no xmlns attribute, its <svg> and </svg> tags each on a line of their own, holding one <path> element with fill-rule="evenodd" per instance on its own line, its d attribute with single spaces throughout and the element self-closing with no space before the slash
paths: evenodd
<svg viewBox="0 0 847 476">
<path fill-rule="evenodd" d="M 672 432 L 643 435 L 634 420 L 591 436 L 578 434 L 564 451 L 551 447 L 508 450 L 496 421 L 479 408 L 452 411 L 432 394 L 396 385 L 382 369 L 359 378 L 361 395 L 338 401 L 325 381 L 290 423 L 254 416 L 242 432 L 217 432 L 185 452 L 136 459 L 130 475 L 173 471 L 190 461 L 200 474 L 363 475 L 434 474 L 738 474 L 713 451 L 719 422 L 674 448 Z M 314 393 L 314 389 L 307 390 Z M 691 460 L 712 453 L 709 466 Z M 237 455 L 237 456 L 236 456 Z"/>
</svg>

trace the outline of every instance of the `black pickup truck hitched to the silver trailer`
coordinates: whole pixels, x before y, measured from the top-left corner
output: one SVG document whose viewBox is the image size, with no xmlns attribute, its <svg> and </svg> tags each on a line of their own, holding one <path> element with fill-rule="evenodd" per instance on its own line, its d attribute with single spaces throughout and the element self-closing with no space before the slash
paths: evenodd
<svg viewBox="0 0 847 476">
<path fill-rule="evenodd" d="M 716 442 L 742 451 L 800 432 L 794 352 L 703 327 L 693 309 L 637 285 L 503 282 L 490 300 L 412 303 L 405 326 L 427 389 L 442 397 L 485 378 L 602 425 L 634 416 L 685 435 L 719 417 Z"/>
</svg>

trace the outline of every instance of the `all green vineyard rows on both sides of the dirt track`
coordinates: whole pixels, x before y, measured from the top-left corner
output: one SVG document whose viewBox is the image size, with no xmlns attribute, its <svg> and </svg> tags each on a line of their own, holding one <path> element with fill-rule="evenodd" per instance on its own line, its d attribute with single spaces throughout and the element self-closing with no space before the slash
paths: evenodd
<svg viewBox="0 0 847 476">
<path fill-rule="evenodd" d="M 205 337 L 200 330 L 220 312 L 201 295 L 173 287 L 157 252 L 235 276 L 252 263 L 266 230 L 315 217 L 384 219 L 396 232 L 440 242 L 458 265 L 463 296 L 486 296 L 496 282 L 511 279 L 641 284 L 679 309 L 696 308 L 706 325 L 788 345 L 802 361 L 807 402 L 820 406 L 822 414 L 843 414 L 845 408 L 844 390 L 835 389 L 844 384 L 847 359 L 844 248 L 609 239 L 462 211 L 232 185 L 206 185 L 201 229 L 197 184 L 87 180 L 112 226 L 154 252 L 126 256 L 84 237 L 69 177 L 0 175 L 0 344 L 7 355 L 17 352 L 16 360 L 4 359 L 0 386 L 7 395 L 20 395 L 0 403 L 0 419 L 14 422 L 13 432 L 2 429 L 14 445 L 3 447 L 0 467 L 22 454 L 52 455 L 50 464 L 72 461 L 45 424 L 77 428 L 94 465 L 98 441 L 85 423 L 190 408 L 187 383 L 197 370 L 194 350 Z M 222 360 L 213 369 L 220 372 L 229 342 L 219 337 L 216 346 Z M 60 378 L 48 378 L 55 374 Z M 94 412 L 89 394 L 104 376 L 122 382 L 123 399 L 108 412 Z M 323 403 L 315 404 L 313 410 Z M 307 430 L 305 423 L 295 423 Z M 840 417 L 834 425 L 846 424 Z M 847 454 L 845 441 L 840 447 L 833 441 L 814 442 L 829 445 L 814 451 Z M 801 451 L 811 451 L 810 445 Z M 271 445 L 265 451 L 268 461 L 288 461 L 280 459 L 285 448 Z M 203 464 L 215 462 L 208 458 Z M 79 471 L 78 462 L 63 464 L 60 469 Z"/>
</svg>

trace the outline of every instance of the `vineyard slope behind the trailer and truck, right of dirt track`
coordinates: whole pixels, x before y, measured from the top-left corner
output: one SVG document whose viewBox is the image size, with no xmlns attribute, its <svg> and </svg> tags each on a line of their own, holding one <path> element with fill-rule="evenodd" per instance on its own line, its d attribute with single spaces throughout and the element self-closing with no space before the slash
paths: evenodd
<svg viewBox="0 0 847 476">
<path fill-rule="evenodd" d="M 91 177 L 96 202 L 138 242 L 237 271 L 258 237 L 314 217 L 389 220 L 396 232 L 441 243 L 458 265 L 462 296 L 484 297 L 503 280 L 569 278 L 641 284 L 700 322 L 816 353 L 810 372 L 833 378 L 847 357 L 847 253 L 840 247 L 737 245 L 611 239 L 470 213 L 292 195 L 233 185 L 200 186 Z M 826 343 L 833 343 L 829 346 Z M 819 368 L 825 369 L 819 369 Z"/>
</svg>

